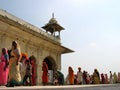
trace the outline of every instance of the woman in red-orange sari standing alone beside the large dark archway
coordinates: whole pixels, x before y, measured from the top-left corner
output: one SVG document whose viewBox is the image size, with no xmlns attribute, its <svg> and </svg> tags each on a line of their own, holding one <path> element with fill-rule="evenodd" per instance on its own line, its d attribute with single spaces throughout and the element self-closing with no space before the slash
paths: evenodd
<svg viewBox="0 0 120 90">
<path fill-rule="evenodd" d="M 42 83 L 43 85 L 46 85 L 48 83 L 48 66 L 46 64 L 46 62 L 43 62 L 43 66 L 42 66 Z"/>
</svg>

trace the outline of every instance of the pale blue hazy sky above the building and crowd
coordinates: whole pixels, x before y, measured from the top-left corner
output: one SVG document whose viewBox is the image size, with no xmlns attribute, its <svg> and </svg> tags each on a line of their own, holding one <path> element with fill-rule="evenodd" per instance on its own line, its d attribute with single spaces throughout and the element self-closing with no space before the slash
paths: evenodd
<svg viewBox="0 0 120 90">
<path fill-rule="evenodd" d="M 52 17 L 65 28 L 62 45 L 74 53 L 62 55 L 62 72 L 120 71 L 120 0 L 0 0 L 0 8 L 42 27 Z"/>
</svg>

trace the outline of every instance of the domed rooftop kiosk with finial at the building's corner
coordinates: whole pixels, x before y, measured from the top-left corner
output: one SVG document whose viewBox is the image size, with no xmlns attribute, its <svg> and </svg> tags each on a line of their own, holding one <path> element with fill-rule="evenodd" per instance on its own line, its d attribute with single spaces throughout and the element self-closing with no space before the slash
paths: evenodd
<svg viewBox="0 0 120 90">
<path fill-rule="evenodd" d="M 57 20 L 54 18 L 54 13 L 52 14 L 52 18 L 49 20 L 49 22 L 42 27 L 46 30 L 46 32 L 50 32 L 51 35 L 57 36 L 60 38 L 60 31 L 64 30 L 64 28 L 58 24 Z M 58 32 L 58 35 L 56 35 L 56 32 Z"/>
</svg>

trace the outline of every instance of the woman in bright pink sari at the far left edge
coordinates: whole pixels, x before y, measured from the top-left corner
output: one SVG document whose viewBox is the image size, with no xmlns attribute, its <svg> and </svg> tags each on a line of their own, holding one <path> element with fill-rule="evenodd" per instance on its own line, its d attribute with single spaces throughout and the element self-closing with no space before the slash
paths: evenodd
<svg viewBox="0 0 120 90">
<path fill-rule="evenodd" d="M 2 48 L 0 56 L 0 85 L 6 85 L 8 80 L 8 62 L 9 56 L 6 48 Z"/>
</svg>

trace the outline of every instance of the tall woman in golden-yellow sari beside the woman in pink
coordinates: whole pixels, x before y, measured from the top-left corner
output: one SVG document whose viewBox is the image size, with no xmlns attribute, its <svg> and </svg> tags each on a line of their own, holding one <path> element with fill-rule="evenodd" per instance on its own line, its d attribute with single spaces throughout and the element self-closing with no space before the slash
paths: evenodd
<svg viewBox="0 0 120 90">
<path fill-rule="evenodd" d="M 16 41 L 12 42 L 11 58 L 9 62 L 9 83 L 7 86 L 18 86 L 21 82 L 20 59 L 21 51 Z"/>
</svg>

